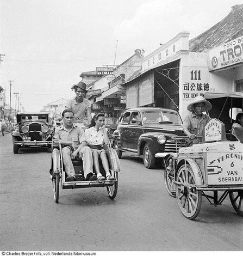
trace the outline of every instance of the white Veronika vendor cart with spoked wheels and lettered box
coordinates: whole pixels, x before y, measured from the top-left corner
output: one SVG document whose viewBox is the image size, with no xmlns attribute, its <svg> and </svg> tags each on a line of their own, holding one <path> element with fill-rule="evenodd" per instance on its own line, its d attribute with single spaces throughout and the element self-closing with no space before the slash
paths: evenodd
<svg viewBox="0 0 243 256">
<path fill-rule="evenodd" d="M 234 136 L 235 141 L 227 140 L 225 125 L 213 118 L 200 144 L 185 147 L 185 137 L 174 137 L 177 153 L 164 155 L 165 185 L 186 218 L 194 220 L 200 213 L 202 196 L 217 206 L 228 194 L 243 216 L 243 128 Z"/>
</svg>

